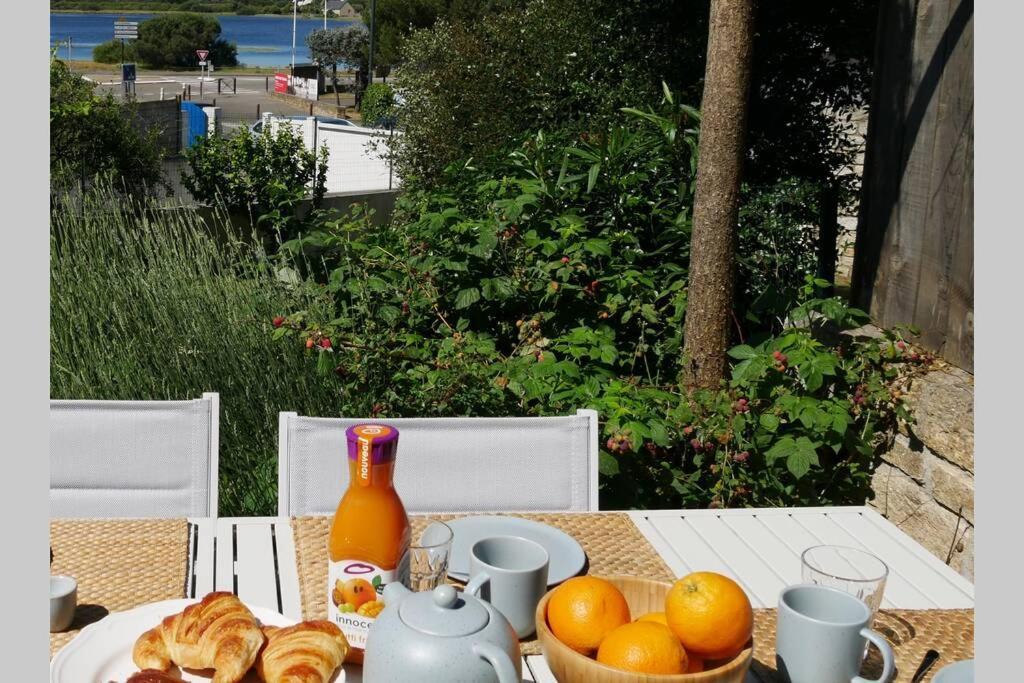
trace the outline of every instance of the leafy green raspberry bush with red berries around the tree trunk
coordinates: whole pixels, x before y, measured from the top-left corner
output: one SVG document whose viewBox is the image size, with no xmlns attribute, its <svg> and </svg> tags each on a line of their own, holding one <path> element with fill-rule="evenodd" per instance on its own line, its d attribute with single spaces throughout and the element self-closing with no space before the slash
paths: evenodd
<svg viewBox="0 0 1024 683">
<path fill-rule="evenodd" d="M 343 415 L 597 410 L 606 507 L 862 503 L 878 435 L 905 417 L 890 387 L 924 360 L 899 332 L 837 335 L 866 316 L 818 298 L 813 264 L 752 258 L 769 219 L 781 243 L 804 230 L 754 212 L 739 241 L 744 343 L 721 388 L 688 395 L 696 113 L 670 97 L 628 114 L 604 132 L 537 134 L 452 166 L 381 228 L 317 213 L 283 256 L 322 280 L 333 317 L 296 305 L 275 337 L 337 376 Z"/>
</svg>

